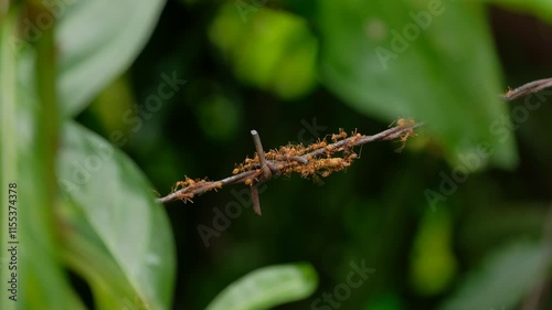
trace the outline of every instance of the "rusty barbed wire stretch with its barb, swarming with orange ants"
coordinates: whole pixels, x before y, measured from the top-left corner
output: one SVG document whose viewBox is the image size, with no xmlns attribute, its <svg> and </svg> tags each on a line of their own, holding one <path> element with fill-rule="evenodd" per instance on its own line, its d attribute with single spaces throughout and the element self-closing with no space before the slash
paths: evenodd
<svg viewBox="0 0 552 310">
<path fill-rule="evenodd" d="M 219 181 L 192 180 L 187 178 L 185 181 L 177 182 L 170 194 L 159 197 L 157 201 L 160 203 L 176 200 L 191 201 L 195 195 L 238 183 L 250 185 L 253 195 L 257 192 L 256 185 L 258 183 L 267 182 L 272 175 L 289 175 L 293 172 L 300 173 L 304 178 L 314 174 L 327 177 L 331 172 L 349 167 L 358 158 L 353 152 L 353 147 L 374 141 L 395 139 L 400 139 L 404 143 L 408 137 L 413 136 L 414 129 L 421 126 L 423 126 L 422 122 L 415 122 L 412 119 L 399 119 L 396 126 L 373 136 L 353 133 L 347 138 L 348 135 L 344 131 L 340 131 L 339 135 L 331 136 L 332 143 L 329 145 L 323 139 L 308 147 L 289 145 L 280 147 L 278 150 L 270 150 L 267 153 L 263 151 L 258 133 L 252 130 L 257 150 L 256 156 L 253 159 L 246 159 L 244 163 L 234 169 L 234 175 Z M 342 157 L 332 157 L 338 152 L 341 152 Z M 258 196 L 253 197 L 253 200 L 257 204 L 254 207 L 255 212 L 261 214 Z"/>
</svg>

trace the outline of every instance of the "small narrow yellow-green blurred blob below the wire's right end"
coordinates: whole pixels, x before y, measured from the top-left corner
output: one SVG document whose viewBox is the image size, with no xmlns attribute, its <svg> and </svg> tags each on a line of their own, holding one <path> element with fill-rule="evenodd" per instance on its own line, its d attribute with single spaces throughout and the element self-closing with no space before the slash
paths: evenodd
<svg viewBox="0 0 552 310">
<path fill-rule="evenodd" d="M 456 275 L 452 248 L 452 221 L 447 209 L 427 209 L 414 239 L 411 280 L 421 295 L 443 292 Z"/>
</svg>

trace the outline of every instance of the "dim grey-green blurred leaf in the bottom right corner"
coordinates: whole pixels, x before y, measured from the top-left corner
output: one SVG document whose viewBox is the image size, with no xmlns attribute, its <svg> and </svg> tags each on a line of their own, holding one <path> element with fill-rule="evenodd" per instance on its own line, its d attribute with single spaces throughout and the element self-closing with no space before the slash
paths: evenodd
<svg viewBox="0 0 552 310">
<path fill-rule="evenodd" d="M 549 264 L 548 250 L 542 244 L 511 243 L 468 275 L 454 297 L 439 309 L 514 309 Z"/>
</svg>

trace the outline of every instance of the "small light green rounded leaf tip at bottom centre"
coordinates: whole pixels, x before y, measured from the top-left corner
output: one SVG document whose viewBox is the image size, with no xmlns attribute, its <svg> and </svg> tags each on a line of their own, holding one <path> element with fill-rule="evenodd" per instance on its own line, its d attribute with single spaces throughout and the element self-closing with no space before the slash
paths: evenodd
<svg viewBox="0 0 552 310">
<path fill-rule="evenodd" d="M 316 270 L 309 264 L 265 267 L 230 285 L 206 310 L 269 309 L 306 298 L 317 286 Z"/>
</svg>

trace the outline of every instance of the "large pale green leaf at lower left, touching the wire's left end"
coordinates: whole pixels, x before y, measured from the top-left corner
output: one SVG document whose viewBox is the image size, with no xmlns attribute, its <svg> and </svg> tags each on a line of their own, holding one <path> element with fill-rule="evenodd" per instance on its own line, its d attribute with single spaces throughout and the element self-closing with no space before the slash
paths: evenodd
<svg viewBox="0 0 552 310">
<path fill-rule="evenodd" d="M 174 248 L 162 205 L 125 154 L 75 125 L 63 128 L 59 183 L 66 206 L 76 205 L 64 257 L 91 282 L 98 303 L 169 309 Z M 75 207 L 74 207 L 75 209 Z M 109 287 L 117 288 L 116 295 Z M 108 301 L 106 301 L 108 300 Z M 120 309 L 120 308 L 119 308 Z"/>
</svg>

